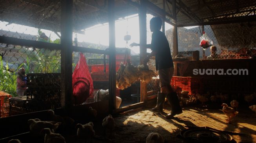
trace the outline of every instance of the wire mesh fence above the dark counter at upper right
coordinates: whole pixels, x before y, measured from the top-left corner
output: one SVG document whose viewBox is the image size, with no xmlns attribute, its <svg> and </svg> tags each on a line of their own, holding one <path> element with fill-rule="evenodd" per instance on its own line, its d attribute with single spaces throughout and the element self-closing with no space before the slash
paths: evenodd
<svg viewBox="0 0 256 143">
<path fill-rule="evenodd" d="M 217 59 L 251 58 L 255 52 L 255 24 L 233 23 L 224 25 L 205 25 L 204 32 L 217 47 Z M 202 27 L 178 27 L 178 51 L 188 52 L 198 50 L 201 59 L 211 55 L 210 48 L 203 50 L 200 46 Z M 166 31 L 169 43 L 172 43 L 172 29 Z M 247 52 L 251 52 L 248 54 Z M 203 57 L 203 52 L 205 53 Z"/>
</svg>

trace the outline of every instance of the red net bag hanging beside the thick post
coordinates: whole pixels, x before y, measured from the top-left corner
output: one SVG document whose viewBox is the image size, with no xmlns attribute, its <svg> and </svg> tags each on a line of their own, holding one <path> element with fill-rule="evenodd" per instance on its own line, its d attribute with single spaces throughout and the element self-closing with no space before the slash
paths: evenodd
<svg viewBox="0 0 256 143">
<path fill-rule="evenodd" d="M 80 52 L 80 59 L 72 75 L 73 96 L 75 104 L 82 104 L 93 95 L 93 79 L 84 55 Z"/>
</svg>

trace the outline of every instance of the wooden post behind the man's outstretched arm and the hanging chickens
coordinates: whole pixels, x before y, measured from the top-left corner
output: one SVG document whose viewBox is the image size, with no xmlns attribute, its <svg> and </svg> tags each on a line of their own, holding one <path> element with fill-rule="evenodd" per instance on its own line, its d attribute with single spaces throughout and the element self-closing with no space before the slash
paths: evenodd
<svg viewBox="0 0 256 143">
<path fill-rule="evenodd" d="M 145 45 L 147 44 L 147 7 L 145 4 L 145 0 L 140 1 L 139 8 L 139 26 L 140 26 L 140 64 L 143 64 L 143 59 L 147 54 L 147 49 Z M 140 101 L 147 100 L 147 87 L 145 82 L 140 82 Z"/>
</svg>

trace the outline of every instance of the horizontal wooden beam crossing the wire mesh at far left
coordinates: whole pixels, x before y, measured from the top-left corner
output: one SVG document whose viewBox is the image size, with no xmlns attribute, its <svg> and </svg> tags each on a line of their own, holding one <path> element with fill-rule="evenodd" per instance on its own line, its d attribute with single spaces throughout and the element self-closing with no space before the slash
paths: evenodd
<svg viewBox="0 0 256 143">
<path fill-rule="evenodd" d="M 60 44 L 46 43 L 41 41 L 25 40 L 12 37 L 0 36 L 0 43 L 11 44 L 11 45 L 20 45 L 20 46 L 29 46 L 35 48 L 46 48 L 49 50 L 61 50 L 62 47 Z"/>
</svg>

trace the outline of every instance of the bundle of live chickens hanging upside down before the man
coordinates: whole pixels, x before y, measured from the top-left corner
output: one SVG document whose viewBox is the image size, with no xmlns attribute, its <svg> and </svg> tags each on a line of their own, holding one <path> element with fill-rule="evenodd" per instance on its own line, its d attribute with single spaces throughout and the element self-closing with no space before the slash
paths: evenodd
<svg viewBox="0 0 256 143">
<path fill-rule="evenodd" d="M 156 77 L 156 73 L 153 70 L 149 70 L 147 64 L 134 67 L 128 59 L 126 65 L 120 64 L 120 68 L 116 73 L 116 87 L 123 90 L 139 79 L 148 83 L 152 77 Z"/>
</svg>

